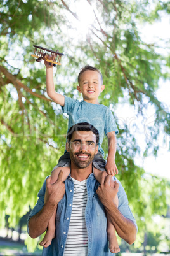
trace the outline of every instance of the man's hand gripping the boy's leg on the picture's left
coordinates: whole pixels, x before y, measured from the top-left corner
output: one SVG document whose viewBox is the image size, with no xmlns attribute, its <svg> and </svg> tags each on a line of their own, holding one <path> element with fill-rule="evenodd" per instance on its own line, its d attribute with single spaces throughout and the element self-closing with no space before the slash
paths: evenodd
<svg viewBox="0 0 170 256">
<path fill-rule="evenodd" d="M 62 182 L 62 176 L 63 172 L 61 170 L 58 174 L 58 180 L 55 183 L 50 183 L 51 177 L 46 180 L 46 189 L 48 194 L 46 201 L 51 205 L 57 206 L 58 202 L 62 200 L 65 194 L 65 183 Z"/>
</svg>

